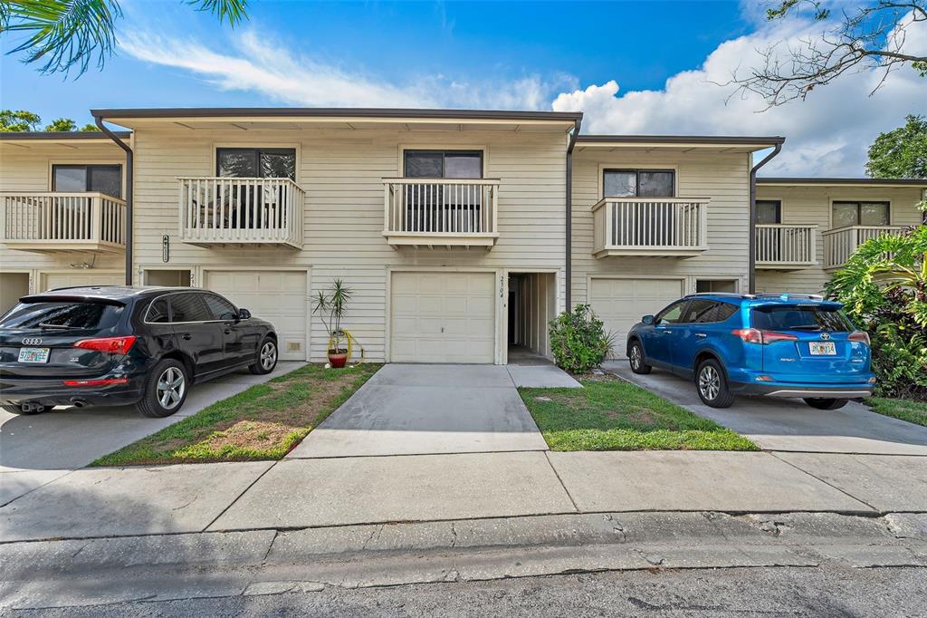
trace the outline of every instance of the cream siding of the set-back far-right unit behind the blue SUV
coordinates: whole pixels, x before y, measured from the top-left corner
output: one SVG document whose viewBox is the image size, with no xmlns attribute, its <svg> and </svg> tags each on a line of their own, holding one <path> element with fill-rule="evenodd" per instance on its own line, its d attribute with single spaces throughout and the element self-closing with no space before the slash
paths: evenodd
<svg viewBox="0 0 927 618">
<path fill-rule="evenodd" d="M 790 187 L 756 186 L 757 200 L 781 200 L 782 223 L 817 224 L 818 265 L 792 272 L 756 271 L 756 291 L 791 291 L 816 294 L 824 289 L 831 276 L 823 268 L 824 239 L 821 234 L 831 228 L 833 200 L 889 201 L 891 225 L 915 225 L 921 222 L 919 187 Z"/>
</svg>

